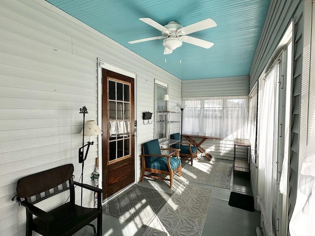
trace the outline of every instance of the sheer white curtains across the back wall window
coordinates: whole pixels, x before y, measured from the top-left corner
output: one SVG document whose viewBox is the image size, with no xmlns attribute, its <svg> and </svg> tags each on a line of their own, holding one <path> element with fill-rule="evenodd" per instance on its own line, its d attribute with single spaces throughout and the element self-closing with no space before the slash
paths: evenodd
<svg viewBox="0 0 315 236">
<path fill-rule="evenodd" d="M 248 97 L 183 99 L 183 133 L 221 139 L 247 138 Z"/>
</svg>

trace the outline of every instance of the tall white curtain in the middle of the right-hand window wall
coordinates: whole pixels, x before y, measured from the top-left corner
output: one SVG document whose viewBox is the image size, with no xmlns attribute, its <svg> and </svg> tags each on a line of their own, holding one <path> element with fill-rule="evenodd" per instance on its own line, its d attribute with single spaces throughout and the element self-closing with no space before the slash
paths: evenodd
<svg viewBox="0 0 315 236">
<path fill-rule="evenodd" d="M 278 133 L 278 65 L 274 65 L 262 81 L 262 99 L 259 122 L 258 144 L 258 195 L 266 212 L 264 221 L 268 236 L 272 233 L 272 201 L 275 172 L 273 164 L 277 161 Z M 276 165 L 275 165 L 276 166 Z"/>
</svg>

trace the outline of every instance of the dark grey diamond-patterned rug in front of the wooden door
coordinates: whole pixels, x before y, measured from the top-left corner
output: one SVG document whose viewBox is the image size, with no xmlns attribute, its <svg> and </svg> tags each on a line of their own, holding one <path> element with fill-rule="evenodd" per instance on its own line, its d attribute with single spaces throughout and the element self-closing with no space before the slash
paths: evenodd
<svg viewBox="0 0 315 236">
<path fill-rule="evenodd" d="M 134 185 L 130 190 L 103 206 L 103 212 L 147 227 L 171 194 Z"/>
</svg>

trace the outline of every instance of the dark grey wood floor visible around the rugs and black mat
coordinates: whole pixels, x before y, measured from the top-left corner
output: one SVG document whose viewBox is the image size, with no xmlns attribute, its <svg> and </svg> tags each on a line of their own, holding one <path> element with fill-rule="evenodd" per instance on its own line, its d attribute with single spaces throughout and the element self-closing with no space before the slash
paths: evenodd
<svg viewBox="0 0 315 236">
<path fill-rule="evenodd" d="M 230 160 L 220 161 L 232 163 Z M 152 182 L 143 181 L 141 184 L 145 186 Z M 161 191 L 172 191 L 162 181 L 153 183 L 157 184 Z M 260 212 L 250 212 L 228 205 L 232 191 L 252 195 L 249 173 L 235 171 L 234 176 L 232 173 L 230 189 L 198 185 L 214 190 L 202 236 L 256 236 L 256 227 L 260 224 Z M 176 182 L 174 187 L 176 188 Z M 92 236 L 92 228 L 85 228 L 75 235 Z M 119 219 L 103 214 L 103 236 L 141 236 L 143 232 L 144 228 L 138 228 L 132 222 L 120 222 Z"/>
</svg>

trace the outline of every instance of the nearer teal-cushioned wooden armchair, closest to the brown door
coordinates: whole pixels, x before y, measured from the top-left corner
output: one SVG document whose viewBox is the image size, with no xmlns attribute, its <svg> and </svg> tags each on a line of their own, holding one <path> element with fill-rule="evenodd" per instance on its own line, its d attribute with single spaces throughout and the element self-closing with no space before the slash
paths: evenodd
<svg viewBox="0 0 315 236">
<path fill-rule="evenodd" d="M 168 153 L 174 153 L 176 156 L 161 154 L 161 150 Z M 143 144 L 142 173 L 141 180 L 144 177 L 163 179 L 170 181 L 170 188 L 173 187 L 173 176 L 178 172 L 179 177 L 182 176 L 182 163 L 179 159 L 179 149 L 177 148 L 160 148 L 158 140 L 152 140 Z M 146 172 L 150 174 L 145 175 Z M 169 178 L 161 177 L 154 174 L 169 175 Z"/>
</svg>

